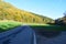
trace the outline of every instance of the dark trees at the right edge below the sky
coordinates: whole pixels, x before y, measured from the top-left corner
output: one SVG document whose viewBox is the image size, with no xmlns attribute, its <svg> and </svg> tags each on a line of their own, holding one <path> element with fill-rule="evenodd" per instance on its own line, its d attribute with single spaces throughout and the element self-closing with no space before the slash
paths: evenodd
<svg viewBox="0 0 66 44">
<path fill-rule="evenodd" d="M 66 26 L 66 14 L 63 18 L 56 19 L 54 23 L 50 22 L 48 24 Z"/>
</svg>

